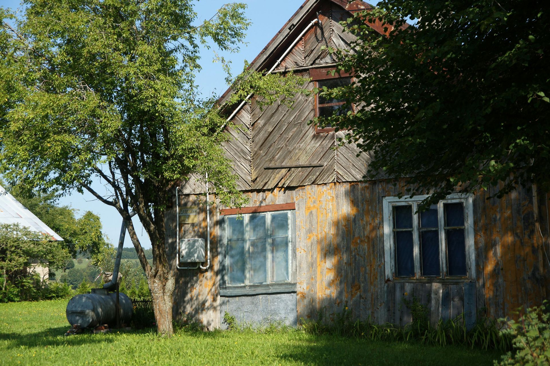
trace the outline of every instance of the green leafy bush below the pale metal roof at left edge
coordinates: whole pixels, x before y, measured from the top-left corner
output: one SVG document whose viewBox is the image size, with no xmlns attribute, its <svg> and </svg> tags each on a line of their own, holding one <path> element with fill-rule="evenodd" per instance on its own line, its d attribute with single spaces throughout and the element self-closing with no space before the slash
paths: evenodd
<svg viewBox="0 0 550 366">
<path fill-rule="evenodd" d="M 0 301 L 41 298 L 41 278 L 30 273 L 30 259 L 47 266 L 67 258 L 60 242 L 17 224 L 0 224 Z"/>
</svg>

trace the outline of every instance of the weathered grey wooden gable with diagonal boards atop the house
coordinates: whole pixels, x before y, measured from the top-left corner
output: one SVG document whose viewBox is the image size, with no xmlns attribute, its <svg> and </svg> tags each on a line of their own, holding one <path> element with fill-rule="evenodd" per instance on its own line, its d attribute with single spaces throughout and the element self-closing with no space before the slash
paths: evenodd
<svg viewBox="0 0 550 366">
<path fill-rule="evenodd" d="M 312 90 L 315 81 L 308 81 L 314 70 L 334 67 L 338 62 L 327 50 L 350 48 L 354 36 L 345 32 L 340 20 L 350 17 L 350 11 L 368 8 L 355 1 L 309 0 L 294 14 L 281 31 L 252 62 L 256 70 L 271 69 L 296 36 L 307 24 L 318 19 L 285 55 L 273 72 L 293 70 L 304 77 L 304 88 Z M 310 73 L 310 70 L 311 73 Z M 229 91 L 230 92 L 230 91 Z M 228 98 L 228 92 L 221 101 Z M 335 147 L 345 132 L 316 133 L 311 124 L 315 117 L 315 96 L 299 94 L 294 107 L 276 102 L 260 108 L 253 96 L 233 118 L 233 127 L 226 128 L 232 139 L 223 145 L 226 156 L 233 161 L 240 190 L 298 187 L 333 182 L 356 182 L 364 177 L 371 156 L 359 154 L 355 144 Z M 275 168 L 277 166 L 285 166 Z M 300 167 L 293 167 L 300 166 Z M 191 177 L 180 187 L 182 193 L 204 192 L 198 177 Z"/>
</svg>

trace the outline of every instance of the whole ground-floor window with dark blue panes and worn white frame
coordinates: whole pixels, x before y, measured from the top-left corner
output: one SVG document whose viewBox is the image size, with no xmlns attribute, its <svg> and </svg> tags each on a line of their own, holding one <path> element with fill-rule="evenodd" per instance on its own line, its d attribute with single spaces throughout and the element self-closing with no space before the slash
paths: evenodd
<svg viewBox="0 0 550 366">
<path fill-rule="evenodd" d="M 384 198 L 384 245 L 386 258 L 392 259 L 387 273 L 395 278 L 468 277 L 474 245 L 469 198 L 445 199 L 417 212 L 424 197 Z"/>
</svg>

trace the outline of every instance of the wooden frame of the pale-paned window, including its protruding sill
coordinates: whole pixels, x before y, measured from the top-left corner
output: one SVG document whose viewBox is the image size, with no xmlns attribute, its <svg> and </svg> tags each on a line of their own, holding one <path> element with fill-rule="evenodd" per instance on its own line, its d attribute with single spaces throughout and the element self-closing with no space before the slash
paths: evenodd
<svg viewBox="0 0 550 366">
<path fill-rule="evenodd" d="M 294 204 L 294 203 L 293 203 Z M 257 207 L 269 207 L 269 206 L 279 206 L 279 205 L 265 205 L 265 206 L 256 206 Z M 250 207 L 252 208 L 252 207 Z M 270 230 L 271 227 L 271 214 L 279 214 L 282 212 L 288 213 L 289 218 L 289 225 L 288 225 L 288 261 L 289 261 L 289 280 L 288 281 L 279 281 L 279 282 L 268 282 L 268 283 L 250 283 L 250 259 L 249 256 L 249 230 L 247 230 L 247 222 L 250 219 L 250 216 L 252 215 L 266 215 L 266 228 L 267 230 Z M 239 295 L 246 295 L 246 294 L 262 294 L 262 293 L 281 293 L 281 292 L 296 292 L 296 229 L 295 229 L 295 222 L 296 222 L 296 216 L 295 216 L 295 209 L 286 209 L 286 210 L 272 210 L 272 211 L 254 211 L 250 212 L 248 214 L 244 214 L 243 220 L 245 221 L 245 283 L 237 283 L 234 285 L 228 284 L 228 237 L 227 237 L 227 225 L 229 217 L 237 217 L 239 214 L 232 214 L 232 215 L 223 215 L 221 216 L 221 222 L 219 225 L 220 236 L 221 236 L 221 252 L 223 253 L 220 263 L 220 269 L 222 271 L 221 275 L 221 284 L 220 284 L 220 295 L 221 296 L 239 296 Z M 268 240 L 267 244 L 269 247 L 272 248 L 272 235 L 271 233 L 268 234 Z M 271 253 L 267 254 L 266 258 L 266 265 L 267 267 L 267 280 L 271 281 Z"/>
</svg>

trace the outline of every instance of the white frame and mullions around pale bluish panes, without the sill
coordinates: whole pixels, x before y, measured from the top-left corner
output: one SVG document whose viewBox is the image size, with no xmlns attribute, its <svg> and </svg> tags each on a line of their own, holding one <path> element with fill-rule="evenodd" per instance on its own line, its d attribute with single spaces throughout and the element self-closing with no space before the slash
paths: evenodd
<svg viewBox="0 0 550 366">
<path fill-rule="evenodd" d="M 277 285 L 282 283 L 293 283 L 294 282 L 294 276 L 293 276 L 293 248 L 294 248 L 294 225 L 293 225 L 293 210 L 277 210 L 277 211 L 265 211 L 265 212 L 257 212 L 257 213 L 250 213 L 250 214 L 241 214 L 242 220 L 244 220 L 244 242 L 245 242 L 245 282 L 243 283 L 229 283 L 229 245 L 228 245 L 228 237 L 226 236 L 224 238 L 225 241 L 225 269 L 224 269 L 224 283 L 226 287 L 253 287 L 253 286 L 265 286 L 265 285 Z M 267 283 L 256 283 L 250 281 L 250 238 L 249 234 L 250 231 L 247 230 L 247 227 L 249 225 L 250 217 L 252 216 L 261 216 L 266 215 L 266 245 L 267 248 L 272 248 L 272 233 L 271 233 L 271 215 L 276 214 L 287 214 L 288 217 L 288 280 L 287 281 L 272 281 L 272 250 L 267 250 L 267 259 L 266 259 L 266 274 L 267 274 Z M 229 218 L 238 217 L 239 215 L 227 215 L 226 220 L 224 220 L 224 230 L 226 233 L 229 232 L 228 226 L 229 226 Z"/>
</svg>

